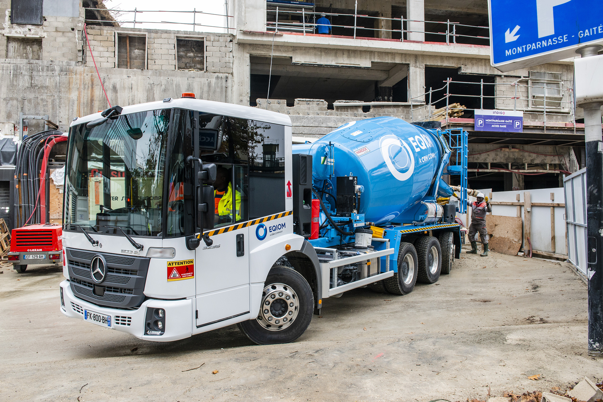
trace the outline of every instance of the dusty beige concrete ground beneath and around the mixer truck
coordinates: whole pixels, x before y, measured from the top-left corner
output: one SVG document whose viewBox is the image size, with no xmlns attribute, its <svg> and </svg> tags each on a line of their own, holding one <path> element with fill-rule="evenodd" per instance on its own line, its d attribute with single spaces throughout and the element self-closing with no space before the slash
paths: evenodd
<svg viewBox="0 0 603 402">
<path fill-rule="evenodd" d="M 140 341 L 65 318 L 60 269 L 5 267 L 0 400 L 464 401 L 600 380 L 601 360 L 587 354 L 586 286 L 569 265 L 463 257 L 409 295 L 363 288 L 326 299 L 297 342 L 271 346 L 235 326 Z"/>
</svg>

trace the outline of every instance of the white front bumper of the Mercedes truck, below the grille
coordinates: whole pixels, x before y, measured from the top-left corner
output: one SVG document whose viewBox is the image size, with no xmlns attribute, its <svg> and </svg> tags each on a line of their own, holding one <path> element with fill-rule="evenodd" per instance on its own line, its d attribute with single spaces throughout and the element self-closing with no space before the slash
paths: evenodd
<svg viewBox="0 0 603 402">
<path fill-rule="evenodd" d="M 65 306 L 61 306 L 61 312 L 70 317 L 84 319 L 84 310 L 110 315 L 111 329 L 127 332 L 136 338 L 145 341 L 168 342 L 188 338 L 192 334 L 194 321 L 192 311 L 192 300 L 145 300 L 136 310 L 109 309 L 100 307 L 75 297 L 69 286 L 69 281 L 64 280 L 60 286 L 63 289 L 63 300 Z M 165 310 L 165 332 L 162 335 L 145 334 L 145 323 L 147 307 Z M 95 325 L 95 324 L 90 324 Z"/>
</svg>

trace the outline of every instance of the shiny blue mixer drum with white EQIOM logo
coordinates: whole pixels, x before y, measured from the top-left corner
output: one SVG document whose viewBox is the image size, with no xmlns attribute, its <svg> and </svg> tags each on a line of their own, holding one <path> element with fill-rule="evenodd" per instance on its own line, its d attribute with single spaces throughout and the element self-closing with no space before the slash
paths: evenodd
<svg viewBox="0 0 603 402">
<path fill-rule="evenodd" d="M 437 134 L 392 117 L 349 122 L 312 144 L 294 145 L 293 153 L 312 155 L 315 187 L 357 176 L 364 186 L 358 213 L 376 224 L 417 219 L 426 210 L 420 201 L 450 157 Z"/>
</svg>

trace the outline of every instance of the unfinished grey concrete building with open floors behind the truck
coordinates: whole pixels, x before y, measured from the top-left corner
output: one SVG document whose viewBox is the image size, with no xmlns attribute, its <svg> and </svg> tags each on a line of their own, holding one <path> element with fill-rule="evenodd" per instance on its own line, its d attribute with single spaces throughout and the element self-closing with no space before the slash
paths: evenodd
<svg viewBox="0 0 603 402">
<path fill-rule="evenodd" d="M 119 23 L 97 0 L 0 0 L 0 13 L 4 135 L 194 92 L 289 115 L 297 142 L 376 116 L 464 128 L 472 188 L 559 187 L 584 166 L 573 60 L 491 67 L 486 0 L 231 0 L 221 34 Z M 475 131 L 476 109 L 523 111 L 523 130 Z"/>
</svg>

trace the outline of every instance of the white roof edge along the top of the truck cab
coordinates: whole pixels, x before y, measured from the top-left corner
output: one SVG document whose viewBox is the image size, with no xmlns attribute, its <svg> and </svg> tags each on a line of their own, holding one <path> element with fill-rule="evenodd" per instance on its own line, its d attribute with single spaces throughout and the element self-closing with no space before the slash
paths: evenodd
<svg viewBox="0 0 603 402">
<path fill-rule="evenodd" d="M 232 118 L 250 119 L 266 123 L 280 124 L 291 126 L 291 119 L 289 116 L 282 115 L 276 111 L 263 110 L 257 107 L 235 105 L 232 103 L 206 101 L 204 99 L 193 99 L 193 98 L 166 98 L 169 99 L 157 102 L 140 103 L 136 105 L 123 106 L 122 115 L 130 113 L 137 113 L 139 111 L 157 110 L 166 108 L 182 108 L 188 110 L 198 110 L 203 113 L 212 113 L 215 115 L 223 115 Z M 71 126 L 86 123 L 99 119 L 101 113 L 94 113 L 93 115 L 83 116 L 81 118 L 75 118 L 71 122 Z"/>
</svg>

